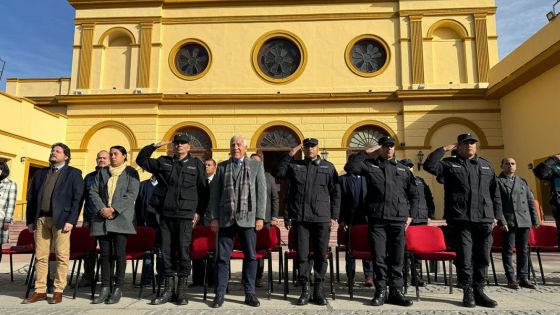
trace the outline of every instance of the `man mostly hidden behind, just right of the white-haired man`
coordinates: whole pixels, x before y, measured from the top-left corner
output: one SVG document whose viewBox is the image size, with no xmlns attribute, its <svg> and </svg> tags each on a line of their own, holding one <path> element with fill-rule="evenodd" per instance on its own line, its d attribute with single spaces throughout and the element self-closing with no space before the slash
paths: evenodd
<svg viewBox="0 0 560 315">
<path fill-rule="evenodd" d="M 251 159 L 262 162 L 262 157 L 257 153 L 251 154 Z M 269 172 L 264 172 L 266 177 L 266 212 L 264 215 L 264 225 L 270 228 L 270 225 L 278 224 L 278 208 L 280 207 L 279 195 L 280 188 L 276 184 L 276 179 Z M 255 286 L 262 287 L 262 274 L 264 272 L 264 259 L 259 259 L 257 265 L 257 279 Z"/>
</svg>

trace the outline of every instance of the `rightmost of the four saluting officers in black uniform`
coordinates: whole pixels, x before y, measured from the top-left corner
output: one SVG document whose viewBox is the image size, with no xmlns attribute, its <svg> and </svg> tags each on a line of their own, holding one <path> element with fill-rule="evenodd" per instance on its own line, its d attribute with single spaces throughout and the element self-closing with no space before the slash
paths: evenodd
<svg viewBox="0 0 560 315">
<path fill-rule="evenodd" d="M 496 174 L 487 160 L 476 154 L 478 140 L 461 134 L 457 144 L 432 152 L 424 169 L 443 177 L 446 219 L 454 234 L 457 278 L 463 286 L 463 305 L 496 307 L 484 293 L 492 247 L 492 229 L 502 216 L 502 202 Z M 457 147 L 457 156 L 443 158 Z"/>
</svg>

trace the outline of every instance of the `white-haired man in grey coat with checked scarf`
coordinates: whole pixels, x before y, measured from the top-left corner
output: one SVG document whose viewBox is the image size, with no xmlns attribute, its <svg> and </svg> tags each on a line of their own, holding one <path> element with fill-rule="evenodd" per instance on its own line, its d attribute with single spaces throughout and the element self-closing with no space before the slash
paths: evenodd
<svg viewBox="0 0 560 315">
<path fill-rule="evenodd" d="M 216 257 L 216 296 L 213 308 L 221 307 L 229 280 L 229 259 L 234 237 L 239 235 L 243 248 L 243 285 L 245 304 L 260 306 L 255 295 L 257 275 L 257 233 L 264 225 L 266 178 L 261 162 L 247 157 L 247 140 L 235 135 L 230 140 L 231 158 L 218 164 L 210 191 L 210 226 L 218 233 Z"/>
</svg>

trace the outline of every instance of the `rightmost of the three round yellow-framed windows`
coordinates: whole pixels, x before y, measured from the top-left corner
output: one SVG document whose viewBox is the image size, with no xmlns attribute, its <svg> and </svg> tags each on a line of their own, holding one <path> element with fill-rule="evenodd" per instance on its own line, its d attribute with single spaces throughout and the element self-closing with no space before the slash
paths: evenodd
<svg viewBox="0 0 560 315">
<path fill-rule="evenodd" d="M 387 69 L 390 61 L 389 46 L 378 36 L 360 35 L 346 46 L 344 57 L 352 72 L 371 78 Z"/>
</svg>

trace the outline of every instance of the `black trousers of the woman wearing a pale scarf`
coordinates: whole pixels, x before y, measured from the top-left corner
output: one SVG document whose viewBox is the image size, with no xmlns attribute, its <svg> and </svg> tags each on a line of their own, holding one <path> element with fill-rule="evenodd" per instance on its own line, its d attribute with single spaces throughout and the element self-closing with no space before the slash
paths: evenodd
<svg viewBox="0 0 560 315">
<path fill-rule="evenodd" d="M 115 255 L 115 288 L 122 288 L 124 282 L 124 271 L 126 269 L 126 241 L 127 234 L 109 232 L 107 235 L 98 236 L 99 248 L 101 250 L 101 286 L 110 287 L 113 278 L 111 267 L 111 252 Z"/>
</svg>

